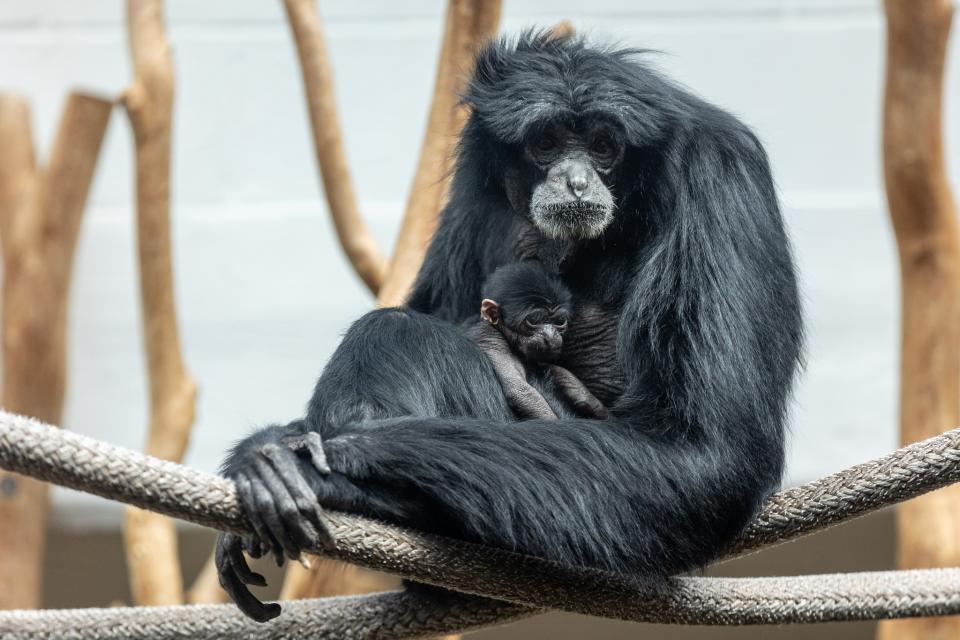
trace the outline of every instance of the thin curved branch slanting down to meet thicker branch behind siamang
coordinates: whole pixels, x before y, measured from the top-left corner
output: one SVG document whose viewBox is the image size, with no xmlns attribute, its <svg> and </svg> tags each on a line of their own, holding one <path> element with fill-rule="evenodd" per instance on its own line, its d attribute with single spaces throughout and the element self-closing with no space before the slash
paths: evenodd
<svg viewBox="0 0 960 640">
<path fill-rule="evenodd" d="M 376 294 L 386 275 L 387 261 L 357 206 L 337 115 L 333 69 L 314 3 L 315 0 L 283 2 L 297 43 L 313 131 L 314 153 L 340 246 L 357 275 L 371 293 Z"/>
</svg>

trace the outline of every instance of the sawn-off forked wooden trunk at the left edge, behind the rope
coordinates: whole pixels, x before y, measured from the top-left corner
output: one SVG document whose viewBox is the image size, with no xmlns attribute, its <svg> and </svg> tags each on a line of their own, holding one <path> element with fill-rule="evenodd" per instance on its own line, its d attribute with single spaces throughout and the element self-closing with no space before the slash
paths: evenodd
<svg viewBox="0 0 960 640">
<path fill-rule="evenodd" d="M 71 93 L 47 168 L 29 108 L 0 95 L 3 407 L 57 424 L 66 387 L 70 275 L 112 102 Z M 0 472 L 0 608 L 40 603 L 46 485 Z"/>
</svg>

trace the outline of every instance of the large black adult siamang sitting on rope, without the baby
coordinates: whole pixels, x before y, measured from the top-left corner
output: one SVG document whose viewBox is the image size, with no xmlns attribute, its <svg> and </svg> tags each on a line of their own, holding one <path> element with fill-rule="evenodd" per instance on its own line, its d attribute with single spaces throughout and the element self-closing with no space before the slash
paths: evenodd
<svg viewBox="0 0 960 640">
<path fill-rule="evenodd" d="M 256 619 L 280 608 L 241 550 L 333 544 L 322 508 L 656 579 L 714 559 L 780 481 L 800 305 L 753 133 L 634 51 L 542 33 L 487 46 L 464 99 L 407 305 L 354 323 L 306 417 L 224 464 L 257 533 L 222 535 L 217 564 Z M 515 421 L 457 327 L 531 225 L 564 244 L 560 364 L 608 420 Z"/>
</svg>

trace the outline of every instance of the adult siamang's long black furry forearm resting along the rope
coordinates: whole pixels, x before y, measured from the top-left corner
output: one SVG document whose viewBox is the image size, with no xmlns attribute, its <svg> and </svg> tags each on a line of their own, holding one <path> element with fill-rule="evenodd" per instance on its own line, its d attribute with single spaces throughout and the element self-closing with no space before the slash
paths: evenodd
<svg viewBox="0 0 960 640">
<path fill-rule="evenodd" d="M 385 419 L 325 444 L 336 473 L 363 491 L 342 503 L 339 489 L 321 481 L 324 506 L 651 577 L 703 561 L 715 536 L 749 516 L 758 481 L 739 459 L 645 436 L 623 419 Z M 408 497 L 429 504 L 429 517 L 410 509 L 396 520 Z M 732 504 L 743 505 L 739 518 L 716 509 Z M 699 536 L 662 545 L 691 529 Z"/>
</svg>

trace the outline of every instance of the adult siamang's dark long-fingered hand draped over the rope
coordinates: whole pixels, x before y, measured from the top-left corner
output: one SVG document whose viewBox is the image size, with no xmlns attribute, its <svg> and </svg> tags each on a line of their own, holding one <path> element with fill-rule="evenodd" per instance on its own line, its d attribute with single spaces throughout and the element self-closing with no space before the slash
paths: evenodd
<svg viewBox="0 0 960 640">
<path fill-rule="evenodd" d="M 255 558 L 272 552 L 279 566 L 285 558 L 299 559 L 304 550 L 317 545 L 335 546 L 317 496 L 301 473 L 295 453 L 300 449 L 309 454 L 318 472 L 330 473 L 320 435 L 315 432 L 258 447 L 233 476 L 237 497 L 255 534 L 224 533 L 217 539 L 220 585 L 241 611 L 258 622 L 280 615 L 280 605 L 264 604 L 250 593 L 247 585 L 263 586 L 266 580 L 250 570 L 243 551 Z"/>
</svg>

